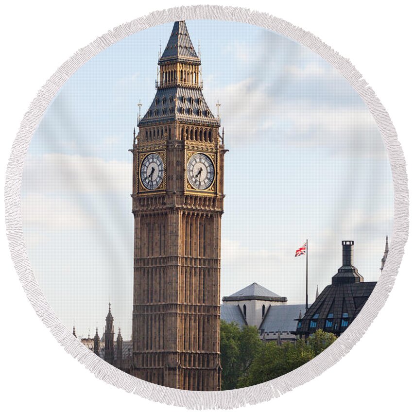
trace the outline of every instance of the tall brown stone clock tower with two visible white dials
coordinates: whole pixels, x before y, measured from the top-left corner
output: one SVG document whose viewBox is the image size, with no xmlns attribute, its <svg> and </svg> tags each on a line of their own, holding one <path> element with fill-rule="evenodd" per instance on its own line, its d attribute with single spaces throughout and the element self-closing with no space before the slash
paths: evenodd
<svg viewBox="0 0 413 413">
<path fill-rule="evenodd" d="M 158 65 L 155 98 L 132 149 L 132 374 L 177 389 L 220 390 L 225 149 L 185 21 L 174 23 Z"/>
</svg>

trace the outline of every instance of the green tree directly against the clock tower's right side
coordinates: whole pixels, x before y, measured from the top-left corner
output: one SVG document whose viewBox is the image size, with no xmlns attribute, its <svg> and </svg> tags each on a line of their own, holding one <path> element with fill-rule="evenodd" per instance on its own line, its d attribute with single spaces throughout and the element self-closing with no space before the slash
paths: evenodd
<svg viewBox="0 0 413 413">
<path fill-rule="evenodd" d="M 257 327 L 239 328 L 236 323 L 221 320 L 222 390 L 238 387 L 238 381 L 263 346 Z"/>
</svg>

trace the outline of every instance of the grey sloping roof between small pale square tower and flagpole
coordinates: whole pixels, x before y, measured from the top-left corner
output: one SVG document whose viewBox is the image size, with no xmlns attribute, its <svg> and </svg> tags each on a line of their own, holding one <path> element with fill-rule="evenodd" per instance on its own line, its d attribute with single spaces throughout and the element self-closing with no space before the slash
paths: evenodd
<svg viewBox="0 0 413 413">
<path fill-rule="evenodd" d="M 300 311 L 304 314 L 305 309 L 305 304 L 270 306 L 259 326 L 259 330 L 264 330 L 264 332 L 268 333 L 295 331 Z"/>
</svg>

